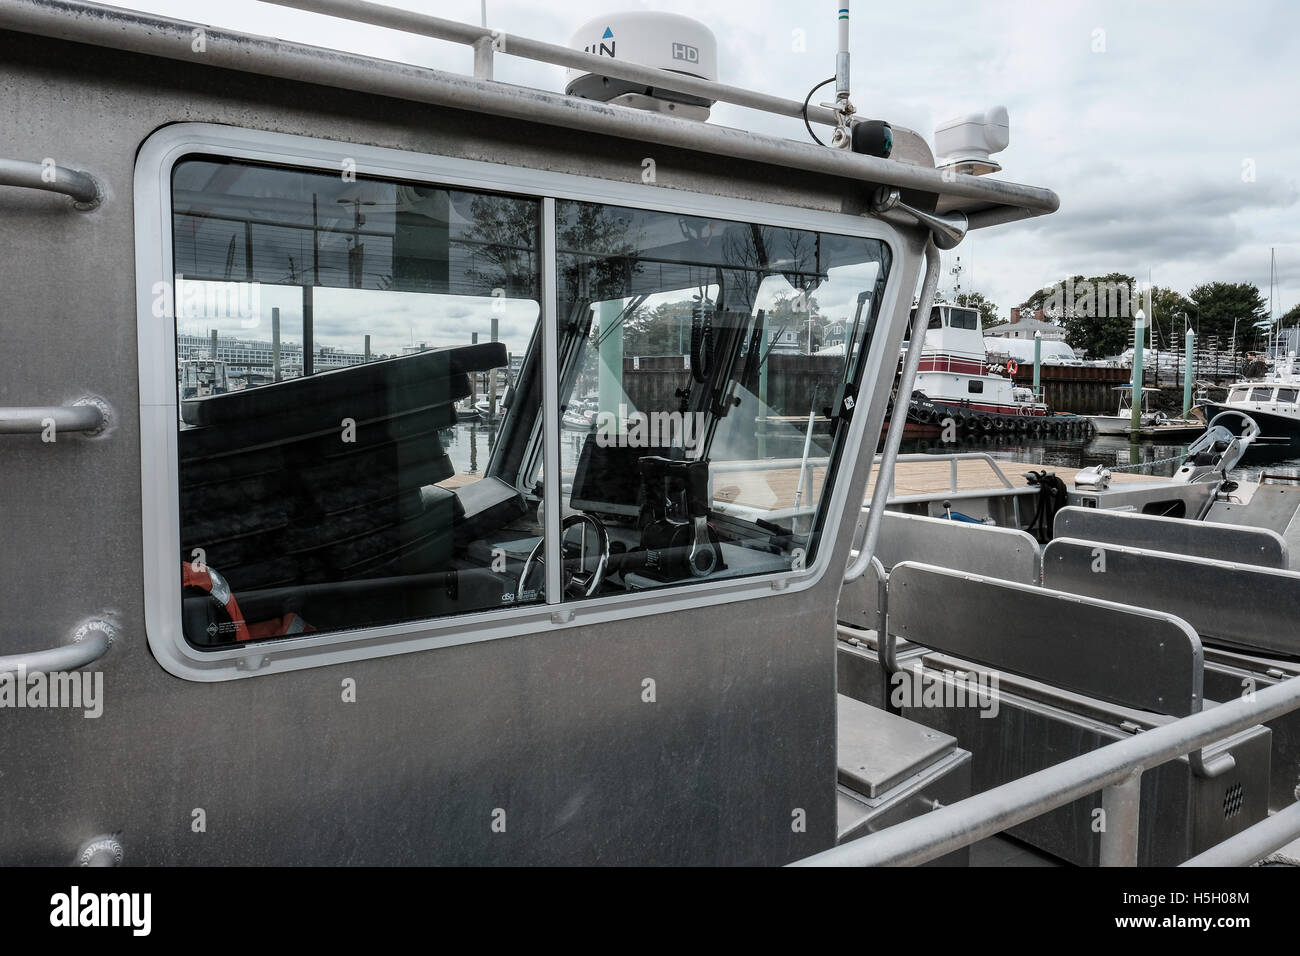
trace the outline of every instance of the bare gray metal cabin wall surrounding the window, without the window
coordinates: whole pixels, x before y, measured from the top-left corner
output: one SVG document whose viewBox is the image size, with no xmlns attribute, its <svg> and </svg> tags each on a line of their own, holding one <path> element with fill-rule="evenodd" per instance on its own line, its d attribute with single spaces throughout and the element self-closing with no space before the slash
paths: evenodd
<svg viewBox="0 0 1300 956">
<path fill-rule="evenodd" d="M 0 652 L 62 643 L 105 611 L 121 628 L 101 718 L 0 710 L 0 862 L 64 864 L 109 831 L 129 864 L 775 864 L 833 843 L 836 574 L 760 611 L 216 684 L 164 672 L 142 610 L 131 176 L 150 133 L 205 121 L 629 182 L 653 155 L 662 186 L 835 212 L 859 211 L 870 186 L 4 31 L 0 82 L 0 156 L 49 156 L 108 186 L 91 213 L 0 190 L 0 405 L 94 393 L 114 410 L 100 438 L 3 438 Z M 904 308 L 918 250 L 894 263 Z"/>
</svg>

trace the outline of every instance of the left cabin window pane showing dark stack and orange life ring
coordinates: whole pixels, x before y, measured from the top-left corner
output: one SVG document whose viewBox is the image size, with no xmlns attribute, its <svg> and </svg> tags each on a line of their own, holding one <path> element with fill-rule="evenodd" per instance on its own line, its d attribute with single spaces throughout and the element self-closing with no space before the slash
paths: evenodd
<svg viewBox="0 0 1300 956">
<path fill-rule="evenodd" d="M 540 602 L 540 200 L 226 159 L 172 185 L 190 644 Z"/>
</svg>

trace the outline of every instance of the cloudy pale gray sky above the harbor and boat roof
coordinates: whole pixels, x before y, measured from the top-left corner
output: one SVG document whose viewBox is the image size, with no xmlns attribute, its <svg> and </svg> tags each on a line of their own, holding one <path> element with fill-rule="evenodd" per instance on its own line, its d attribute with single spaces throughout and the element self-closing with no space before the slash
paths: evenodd
<svg viewBox="0 0 1300 956">
<path fill-rule="evenodd" d="M 469 52 L 257 0 L 129 0 L 213 26 L 469 72 Z M 478 22 L 480 0 L 393 0 Z M 792 99 L 833 73 L 835 9 L 789 0 L 489 0 L 488 22 L 564 43 L 590 17 L 685 13 L 719 40 L 720 79 Z M 824 9 L 823 9 L 824 8 Z M 854 5 L 854 103 L 933 142 L 937 121 L 1004 104 L 1000 176 L 1048 186 L 1061 212 L 972 233 L 963 289 L 1006 313 L 1065 274 L 1127 272 L 1188 291 L 1223 280 L 1268 295 L 1277 250 L 1280 315 L 1300 302 L 1300 4 L 1286 0 L 1043 3 L 879 0 Z M 797 49 L 803 31 L 806 49 Z M 559 90 L 563 72 L 498 57 L 504 82 Z M 719 107 L 714 122 L 805 139 L 802 125 Z M 952 277 L 945 276 L 952 289 Z"/>
</svg>

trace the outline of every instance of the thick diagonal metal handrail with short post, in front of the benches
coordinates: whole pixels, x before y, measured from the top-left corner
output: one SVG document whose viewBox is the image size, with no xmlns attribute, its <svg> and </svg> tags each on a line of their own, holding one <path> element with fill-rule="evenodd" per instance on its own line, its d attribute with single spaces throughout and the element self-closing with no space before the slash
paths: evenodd
<svg viewBox="0 0 1300 956">
<path fill-rule="evenodd" d="M 798 860 L 793 866 L 916 866 L 1102 791 L 1101 858 L 1136 865 L 1135 774 L 1300 709 L 1300 678 L 987 790 L 922 817 Z"/>
</svg>

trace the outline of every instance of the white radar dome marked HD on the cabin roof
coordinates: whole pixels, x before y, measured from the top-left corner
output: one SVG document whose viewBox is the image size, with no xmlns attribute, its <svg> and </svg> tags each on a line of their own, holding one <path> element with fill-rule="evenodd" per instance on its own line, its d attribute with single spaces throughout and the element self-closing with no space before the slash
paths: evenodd
<svg viewBox="0 0 1300 956">
<path fill-rule="evenodd" d="M 718 79 L 718 40 L 712 31 L 699 21 L 675 13 L 615 13 L 589 20 L 573 33 L 569 46 L 611 60 L 698 79 Z M 707 120 L 714 105 L 714 100 L 701 96 L 575 69 L 568 70 L 564 92 L 685 120 Z"/>
</svg>

